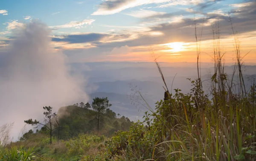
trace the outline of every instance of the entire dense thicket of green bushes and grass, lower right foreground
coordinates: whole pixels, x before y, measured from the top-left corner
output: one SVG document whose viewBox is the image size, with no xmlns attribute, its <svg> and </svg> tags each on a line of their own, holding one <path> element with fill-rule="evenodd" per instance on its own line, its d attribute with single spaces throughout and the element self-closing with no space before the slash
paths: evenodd
<svg viewBox="0 0 256 161">
<path fill-rule="evenodd" d="M 165 101 L 157 102 L 154 110 L 145 112 L 143 122 L 133 124 L 129 132 L 116 133 L 107 142 L 111 158 L 255 161 L 255 84 L 245 92 L 240 78 L 240 86 L 232 87 L 221 66 L 218 62 L 210 80 L 211 99 L 202 90 L 200 78 L 189 79 L 190 93 L 174 89 L 175 93 L 165 95 Z M 241 92 L 235 93 L 233 88 Z"/>
</svg>

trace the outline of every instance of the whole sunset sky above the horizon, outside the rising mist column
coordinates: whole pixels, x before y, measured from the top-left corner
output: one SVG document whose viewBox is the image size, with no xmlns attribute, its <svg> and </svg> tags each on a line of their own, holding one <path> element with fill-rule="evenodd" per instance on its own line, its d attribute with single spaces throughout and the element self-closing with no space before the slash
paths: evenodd
<svg viewBox="0 0 256 161">
<path fill-rule="evenodd" d="M 51 30 L 51 46 L 72 63 L 195 62 L 197 49 L 201 61 L 212 62 L 218 40 L 233 62 L 229 14 L 241 56 L 256 63 L 256 0 L 0 0 L 0 54 L 17 30 L 40 21 Z"/>
</svg>

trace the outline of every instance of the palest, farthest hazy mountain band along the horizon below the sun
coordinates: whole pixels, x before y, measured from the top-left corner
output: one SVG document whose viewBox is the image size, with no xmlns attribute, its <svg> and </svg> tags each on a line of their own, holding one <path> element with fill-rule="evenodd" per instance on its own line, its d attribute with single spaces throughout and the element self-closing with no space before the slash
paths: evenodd
<svg viewBox="0 0 256 161">
<path fill-rule="evenodd" d="M 225 72 L 232 74 L 233 63 L 226 63 Z M 247 63 L 253 64 L 253 63 Z M 255 64 L 255 63 L 254 63 Z M 87 82 L 95 83 L 102 81 L 116 80 L 150 80 L 151 77 L 160 77 L 155 63 L 134 63 L 134 62 L 97 62 L 97 63 L 73 63 L 74 69 L 77 69 L 85 76 Z M 165 77 L 186 76 L 191 78 L 197 75 L 196 63 L 180 62 L 180 63 L 160 63 Z M 214 66 L 212 63 L 201 63 L 201 75 L 213 75 Z M 244 75 L 256 74 L 256 66 L 242 66 Z"/>
</svg>

